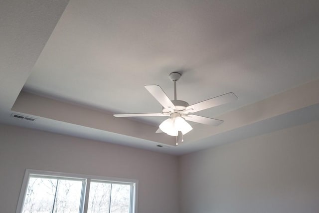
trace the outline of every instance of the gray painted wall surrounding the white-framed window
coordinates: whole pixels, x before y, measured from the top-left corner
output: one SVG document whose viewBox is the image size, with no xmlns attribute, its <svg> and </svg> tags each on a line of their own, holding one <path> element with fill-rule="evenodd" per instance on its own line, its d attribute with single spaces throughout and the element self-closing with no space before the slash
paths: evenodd
<svg viewBox="0 0 319 213">
<path fill-rule="evenodd" d="M 25 169 L 139 180 L 139 213 L 178 213 L 176 156 L 0 125 L 0 212 L 15 212 Z"/>
</svg>

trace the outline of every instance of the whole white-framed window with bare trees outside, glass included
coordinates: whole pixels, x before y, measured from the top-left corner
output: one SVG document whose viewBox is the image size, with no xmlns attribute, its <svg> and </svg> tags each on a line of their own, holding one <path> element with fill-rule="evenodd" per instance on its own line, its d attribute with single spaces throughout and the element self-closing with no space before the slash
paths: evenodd
<svg viewBox="0 0 319 213">
<path fill-rule="evenodd" d="M 137 180 L 26 170 L 16 213 L 135 213 Z"/>
</svg>

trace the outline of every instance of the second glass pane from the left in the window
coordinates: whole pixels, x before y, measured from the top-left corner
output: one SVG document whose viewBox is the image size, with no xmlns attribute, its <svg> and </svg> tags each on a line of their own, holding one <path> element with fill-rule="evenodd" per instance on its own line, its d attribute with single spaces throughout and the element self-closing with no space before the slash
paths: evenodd
<svg viewBox="0 0 319 213">
<path fill-rule="evenodd" d="M 81 191 L 82 181 L 59 179 L 53 213 L 78 213 Z"/>
</svg>

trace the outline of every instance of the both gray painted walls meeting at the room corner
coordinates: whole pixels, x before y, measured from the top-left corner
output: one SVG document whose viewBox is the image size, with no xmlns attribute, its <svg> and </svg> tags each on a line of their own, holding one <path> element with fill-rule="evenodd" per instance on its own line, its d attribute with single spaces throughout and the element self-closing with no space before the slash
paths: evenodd
<svg viewBox="0 0 319 213">
<path fill-rule="evenodd" d="M 178 213 L 178 203 L 181 213 L 318 213 L 319 121 L 184 155 L 179 166 L 175 156 L 0 125 L 0 212 L 15 211 L 26 168 L 138 179 L 139 213 Z"/>
</svg>

